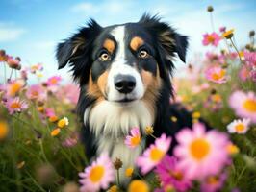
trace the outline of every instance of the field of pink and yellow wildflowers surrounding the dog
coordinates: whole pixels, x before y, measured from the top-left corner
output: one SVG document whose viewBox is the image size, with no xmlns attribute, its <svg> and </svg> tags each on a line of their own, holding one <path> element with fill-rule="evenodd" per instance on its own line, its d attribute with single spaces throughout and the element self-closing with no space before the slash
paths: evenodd
<svg viewBox="0 0 256 192">
<path fill-rule="evenodd" d="M 213 11 L 208 7 L 212 23 Z M 132 179 L 127 188 L 118 182 L 121 159 L 102 154 L 91 162 L 85 156 L 78 86 L 60 76 L 44 79 L 43 64 L 23 64 L 1 50 L 0 191 L 256 191 L 255 32 L 244 38 L 247 44 L 238 47 L 236 30 L 225 27 L 202 35 L 211 51 L 173 78 L 174 100 L 192 112 L 192 129 L 175 135 L 173 156 L 166 155 L 172 138 L 155 138 L 125 170 Z M 31 84 L 35 77 L 38 83 Z M 214 129 L 206 131 L 199 118 Z M 141 137 L 155 137 L 154 129 L 141 135 L 131 128 L 124 143 L 130 150 L 141 147 Z"/>
</svg>

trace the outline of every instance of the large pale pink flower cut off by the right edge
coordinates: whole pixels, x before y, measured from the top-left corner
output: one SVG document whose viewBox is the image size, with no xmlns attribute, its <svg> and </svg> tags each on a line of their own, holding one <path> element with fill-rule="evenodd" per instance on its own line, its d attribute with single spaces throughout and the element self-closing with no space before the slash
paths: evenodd
<svg viewBox="0 0 256 192">
<path fill-rule="evenodd" d="M 252 123 L 256 123 L 256 95 L 254 92 L 244 93 L 235 91 L 229 98 L 229 106 L 242 118 L 249 118 Z"/>
</svg>

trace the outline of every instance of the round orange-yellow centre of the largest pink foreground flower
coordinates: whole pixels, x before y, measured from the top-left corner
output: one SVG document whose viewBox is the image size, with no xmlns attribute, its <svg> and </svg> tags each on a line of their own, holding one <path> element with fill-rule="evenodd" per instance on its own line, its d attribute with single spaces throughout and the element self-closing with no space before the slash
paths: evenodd
<svg viewBox="0 0 256 192">
<path fill-rule="evenodd" d="M 202 160 L 210 153 L 210 144 L 203 138 L 197 138 L 192 141 L 190 150 L 192 157 L 196 160 Z"/>
</svg>

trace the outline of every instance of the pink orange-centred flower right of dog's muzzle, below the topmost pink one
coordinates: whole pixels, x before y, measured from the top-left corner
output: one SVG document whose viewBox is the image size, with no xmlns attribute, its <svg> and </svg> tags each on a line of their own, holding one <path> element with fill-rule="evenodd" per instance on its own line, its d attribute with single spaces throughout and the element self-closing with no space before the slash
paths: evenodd
<svg viewBox="0 0 256 192">
<path fill-rule="evenodd" d="M 226 71 L 219 66 L 210 67 L 205 71 L 206 79 L 217 84 L 223 84 L 227 81 L 225 75 Z"/>
</svg>

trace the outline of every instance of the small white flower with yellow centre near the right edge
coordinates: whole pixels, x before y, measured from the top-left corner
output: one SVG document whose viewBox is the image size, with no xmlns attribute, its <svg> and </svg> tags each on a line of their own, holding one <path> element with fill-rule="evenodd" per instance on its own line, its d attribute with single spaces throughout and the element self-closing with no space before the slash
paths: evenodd
<svg viewBox="0 0 256 192">
<path fill-rule="evenodd" d="M 250 119 L 235 119 L 227 125 L 227 130 L 230 133 L 241 133 L 244 134 L 249 130 Z"/>
</svg>

